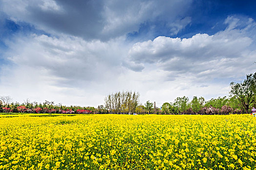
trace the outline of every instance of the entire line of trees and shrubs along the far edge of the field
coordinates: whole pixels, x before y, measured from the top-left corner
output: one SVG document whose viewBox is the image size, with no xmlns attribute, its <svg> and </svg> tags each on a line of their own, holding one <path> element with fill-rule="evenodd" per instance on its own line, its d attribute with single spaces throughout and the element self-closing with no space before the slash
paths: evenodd
<svg viewBox="0 0 256 170">
<path fill-rule="evenodd" d="M 45 101 L 43 103 L 12 102 L 10 96 L 0 96 L 0 112 L 13 113 L 78 113 L 78 114 L 207 114 L 226 115 L 250 113 L 256 107 L 256 73 L 246 75 L 241 83 L 230 83 L 230 96 L 218 97 L 205 101 L 203 97 L 177 97 L 174 102 L 165 102 L 161 108 L 154 108 L 153 103 L 140 103 L 138 92 L 119 91 L 104 98 L 105 106 L 94 107 L 65 106 L 61 103 Z"/>
</svg>

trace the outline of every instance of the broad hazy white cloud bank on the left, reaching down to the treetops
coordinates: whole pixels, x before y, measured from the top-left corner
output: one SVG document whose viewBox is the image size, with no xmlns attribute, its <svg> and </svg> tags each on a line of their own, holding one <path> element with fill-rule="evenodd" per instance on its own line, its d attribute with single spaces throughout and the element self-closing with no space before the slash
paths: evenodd
<svg viewBox="0 0 256 170">
<path fill-rule="evenodd" d="M 20 102 L 30 98 L 103 104 L 104 96 L 115 90 L 123 74 L 122 61 L 128 52 L 122 37 L 101 42 L 32 34 L 5 43 L 9 49 L 4 55 L 11 65 L 1 70 L 0 94 L 8 93 Z"/>
</svg>

